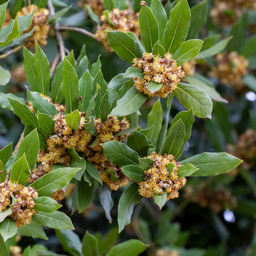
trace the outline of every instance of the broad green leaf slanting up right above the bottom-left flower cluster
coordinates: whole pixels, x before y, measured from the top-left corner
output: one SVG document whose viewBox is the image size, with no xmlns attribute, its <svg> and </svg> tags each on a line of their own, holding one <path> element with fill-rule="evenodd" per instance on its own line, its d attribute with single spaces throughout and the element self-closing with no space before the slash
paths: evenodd
<svg viewBox="0 0 256 256">
<path fill-rule="evenodd" d="M 52 170 L 30 186 L 34 187 L 39 196 L 51 196 L 52 193 L 66 186 L 78 170 L 79 168 L 70 167 Z"/>
</svg>

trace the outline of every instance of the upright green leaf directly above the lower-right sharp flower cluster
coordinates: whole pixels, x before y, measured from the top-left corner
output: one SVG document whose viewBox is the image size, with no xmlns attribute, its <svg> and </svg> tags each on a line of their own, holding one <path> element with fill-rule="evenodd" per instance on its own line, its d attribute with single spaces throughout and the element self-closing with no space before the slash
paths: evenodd
<svg viewBox="0 0 256 256">
<path fill-rule="evenodd" d="M 170 126 L 162 153 L 172 154 L 176 159 L 176 155 L 183 146 L 185 135 L 185 124 L 182 119 L 178 119 L 178 121 Z"/>
</svg>

